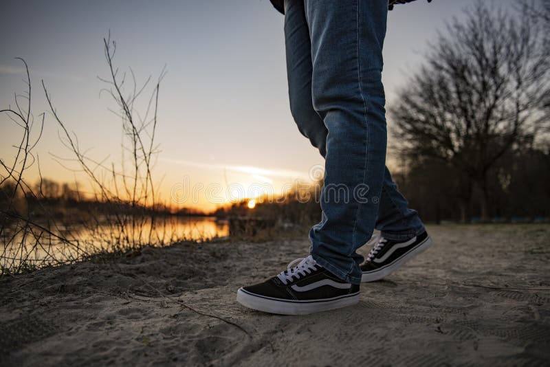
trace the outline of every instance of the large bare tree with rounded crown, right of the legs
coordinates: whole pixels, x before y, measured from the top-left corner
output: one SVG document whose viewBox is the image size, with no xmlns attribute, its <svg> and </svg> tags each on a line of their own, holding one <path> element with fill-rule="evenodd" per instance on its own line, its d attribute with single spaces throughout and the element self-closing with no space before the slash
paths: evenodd
<svg viewBox="0 0 550 367">
<path fill-rule="evenodd" d="M 447 162 L 474 183 L 483 220 L 490 168 L 547 127 L 550 66 L 542 23 L 527 8 L 488 6 L 478 1 L 448 25 L 390 109 L 401 153 Z"/>
</svg>

